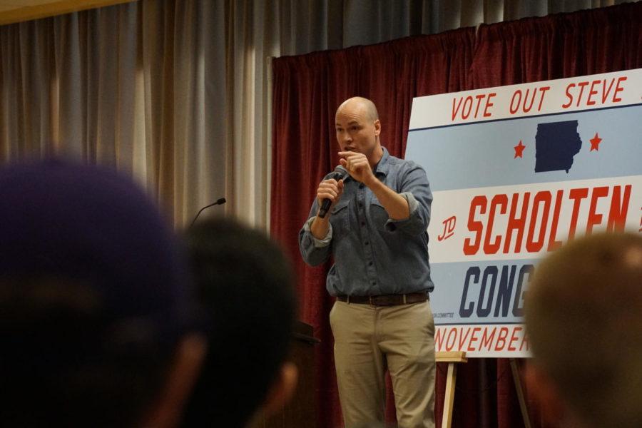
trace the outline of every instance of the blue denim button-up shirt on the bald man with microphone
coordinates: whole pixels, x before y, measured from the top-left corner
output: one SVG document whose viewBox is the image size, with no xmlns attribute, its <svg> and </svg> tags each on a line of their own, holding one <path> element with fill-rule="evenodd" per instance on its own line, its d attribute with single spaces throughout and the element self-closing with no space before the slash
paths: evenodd
<svg viewBox="0 0 642 428">
<path fill-rule="evenodd" d="M 412 161 L 383 156 L 374 175 L 408 201 L 409 218 L 388 217 L 374 193 L 350 175 L 330 217 L 330 230 L 317 240 L 310 225 L 318 205 L 299 233 L 303 260 L 316 266 L 334 256 L 327 274 L 330 295 L 386 295 L 432 291 L 428 262 L 428 223 L 432 193 L 425 170 Z M 326 179 L 326 178 L 324 178 Z"/>
</svg>

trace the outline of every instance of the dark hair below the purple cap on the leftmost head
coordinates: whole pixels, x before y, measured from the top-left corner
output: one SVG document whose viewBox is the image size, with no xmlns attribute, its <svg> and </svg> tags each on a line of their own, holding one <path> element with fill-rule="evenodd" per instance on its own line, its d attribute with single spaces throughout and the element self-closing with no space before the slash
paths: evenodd
<svg viewBox="0 0 642 428">
<path fill-rule="evenodd" d="M 108 314 L 94 285 L 0 280 L 0 424 L 133 426 L 158 394 L 172 352 L 141 320 Z"/>
</svg>

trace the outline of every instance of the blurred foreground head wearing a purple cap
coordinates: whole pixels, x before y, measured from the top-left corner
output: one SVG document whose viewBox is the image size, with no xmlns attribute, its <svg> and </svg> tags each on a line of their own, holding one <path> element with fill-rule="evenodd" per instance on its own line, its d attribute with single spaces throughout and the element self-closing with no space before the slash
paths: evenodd
<svg viewBox="0 0 642 428">
<path fill-rule="evenodd" d="M 0 424 L 168 427 L 205 355 L 187 265 L 131 180 L 0 170 Z"/>
</svg>

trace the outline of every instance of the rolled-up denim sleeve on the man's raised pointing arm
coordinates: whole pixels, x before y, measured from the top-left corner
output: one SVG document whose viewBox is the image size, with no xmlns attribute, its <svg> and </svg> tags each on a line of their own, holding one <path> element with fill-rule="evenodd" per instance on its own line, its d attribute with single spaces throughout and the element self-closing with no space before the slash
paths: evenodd
<svg viewBox="0 0 642 428">
<path fill-rule="evenodd" d="M 388 219 L 387 230 L 399 230 L 410 235 L 424 233 L 430 223 L 430 205 L 432 192 L 426 171 L 416 163 L 402 173 L 402 195 L 408 201 L 409 217 L 403 220 Z"/>
</svg>

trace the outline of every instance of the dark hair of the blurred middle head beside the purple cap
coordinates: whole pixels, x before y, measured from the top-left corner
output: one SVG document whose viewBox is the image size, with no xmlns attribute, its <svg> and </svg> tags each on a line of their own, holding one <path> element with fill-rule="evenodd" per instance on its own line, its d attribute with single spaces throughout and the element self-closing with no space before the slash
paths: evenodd
<svg viewBox="0 0 642 428">
<path fill-rule="evenodd" d="M 292 269 L 266 235 L 232 220 L 198 223 L 187 242 L 210 348 L 183 424 L 243 427 L 289 352 Z"/>
</svg>

